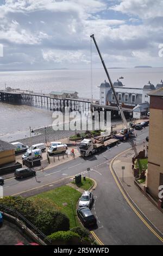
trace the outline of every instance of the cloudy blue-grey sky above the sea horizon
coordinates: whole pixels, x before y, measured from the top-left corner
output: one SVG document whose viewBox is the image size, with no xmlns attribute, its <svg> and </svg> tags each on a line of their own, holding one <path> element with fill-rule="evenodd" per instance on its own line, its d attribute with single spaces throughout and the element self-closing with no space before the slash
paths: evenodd
<svg viewBox="0 0 163 256">
<path fill-rule="evenodd" d="M 91 47 L 102 68 L 91 34 L 108 67 L 162 67 L 162 13 L 163 0 L 0 0 L 0 70 L 90 69 Z"/>
</svg>

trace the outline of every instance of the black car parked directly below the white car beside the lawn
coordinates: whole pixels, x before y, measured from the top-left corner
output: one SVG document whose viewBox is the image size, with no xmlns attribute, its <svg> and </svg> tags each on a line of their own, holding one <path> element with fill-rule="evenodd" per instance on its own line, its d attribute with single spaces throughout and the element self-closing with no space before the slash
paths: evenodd
<svg viewBox="0 0 163 256">
<path fill-rule="evenodd" d="M 80 207 L 77 210 L 78 217 L 85 227 L 96 225 L 97 220 L 88 207 Z"/>
</svg>

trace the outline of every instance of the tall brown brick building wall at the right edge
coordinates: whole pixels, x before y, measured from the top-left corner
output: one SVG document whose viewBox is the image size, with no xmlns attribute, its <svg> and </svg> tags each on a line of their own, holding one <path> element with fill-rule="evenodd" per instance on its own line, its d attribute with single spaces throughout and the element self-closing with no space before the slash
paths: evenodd
<svg viewBox="0 0 163 256">
<path fill-rule="evenodd" d="M 147 190 L 158 198 L 163 185 L 163 87 L 150 96 Z"/>
</svg>

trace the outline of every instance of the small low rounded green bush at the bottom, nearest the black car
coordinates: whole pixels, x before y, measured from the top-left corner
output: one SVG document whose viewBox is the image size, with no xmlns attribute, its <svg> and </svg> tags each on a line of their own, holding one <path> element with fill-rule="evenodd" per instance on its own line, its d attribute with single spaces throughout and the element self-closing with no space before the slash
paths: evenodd
<svg viewBox="0 0 163 256">
<path fill-rule="evenodd" d="M 68 241 L 73 239 L 74 237 L 77 237 L 80 239 L 80 236 L 72 231 L 58 231 L 56 233 L 53 233 L 51 235 L 48 235 L 48 239 L 50 239 L 51 241 L 55 241 L 55 240 L 64 240 L 64 241 Z"/>
</svg>

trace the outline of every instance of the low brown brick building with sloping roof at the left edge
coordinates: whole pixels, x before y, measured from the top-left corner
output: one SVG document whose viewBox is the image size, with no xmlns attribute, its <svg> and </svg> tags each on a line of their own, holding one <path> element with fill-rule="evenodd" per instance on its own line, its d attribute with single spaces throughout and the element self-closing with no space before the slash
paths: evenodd
<svg viewBox="0 0 163 256">
<path fill-rule="evenodd" d="M 15 162 L 15 149 L 16 147 L 11 143 L 0 140 L 0 166 Z"/>
</svg>

